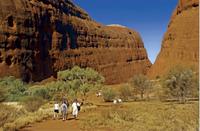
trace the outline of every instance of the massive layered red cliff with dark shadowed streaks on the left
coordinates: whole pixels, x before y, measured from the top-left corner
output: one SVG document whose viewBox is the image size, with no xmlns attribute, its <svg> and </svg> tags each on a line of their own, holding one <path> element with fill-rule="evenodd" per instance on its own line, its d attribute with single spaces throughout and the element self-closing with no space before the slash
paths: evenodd
<svg viewBox="0 0 200 131">
<path fill-rule="evenodd" d="M 68 0 L 1 0 L 0 7 L 0 77 L 40 81 L 78 65 L 115 84 L 151 66 L 136 31 L 99 24 Z"/>
</svg>

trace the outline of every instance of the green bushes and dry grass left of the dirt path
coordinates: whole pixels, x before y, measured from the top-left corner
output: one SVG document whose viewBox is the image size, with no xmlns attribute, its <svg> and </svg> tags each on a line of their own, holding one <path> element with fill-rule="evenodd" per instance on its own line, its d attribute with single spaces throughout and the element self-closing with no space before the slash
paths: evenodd
<svg viewBox="0 0 200 131">
<path fill-rule="evenodd" d="M 72 101 L 78 96 L 87 100 L 88 92 L 100 89 L 103 82 L 104 78 L 96 71 L 77 66 L 58 72 L 57 80 L 42 85 L 30 85 L 14 77 L 5 77 L 0 80 L 0 100 L 3 102 L 0 126 L 9 131 L 41 121 L 52 115 L 53 105 L 45 106 L 51 101 L 63 98 Z"/>
</svg>

